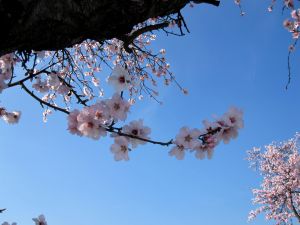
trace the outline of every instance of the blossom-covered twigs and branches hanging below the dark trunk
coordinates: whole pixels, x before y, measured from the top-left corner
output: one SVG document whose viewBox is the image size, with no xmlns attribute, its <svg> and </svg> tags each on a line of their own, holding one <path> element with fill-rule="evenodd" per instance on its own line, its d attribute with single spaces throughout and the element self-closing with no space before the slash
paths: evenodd
<svg viewBox="0 0 300 225">
<path fill-rule="evenodd" d="M 194 1 L 218 5 L 218 1 Z M 79 136 L 99 139 L 110 133 L 114 138 L 111 151 L 116 160 L 128 160 L 128 152 L 138 145 L 152 143 L 170 146 L 169 154 L 183 159 L 185 152 L 196 153 L 197 158 L 210 158 L 216 145 L 227 143 L 243 127 L 242 112 L 231 108 L 216 121 L 205 121 L 203 129 L 183 127 L 175 138 L 157 141 L 149 137 L 150 128 L 143 120 L 125 122 L 127 113 L 137 99 L 143 96 L 160 102 L 157 82 L 174 83 L 184 94 L 184 89 L 170 71 L 165 58 L 166 50 L 154 53 L 149 47 L 155 40 L 153 33 L 184 35 L 189 32 L 180 10 L 174 14 L 152 18 L 133 27 L 127 35 L 110 40 L 85 40 L 71 48 L 57 51 L 18 51 L 0 58 L 0 92 L 21 87 L 43 108 L 43 120 L 54 111 L 68 114 L 69 131 Z M 15 68 L 24 74 L 15 74 Z M 111 98 L 104 98 L 101 72 L 111 70 L 106 82 L 114 88 Z M 82 110 L 73 110 L 74 103 Z M 1 108 L 0 117 L 17 123 L 19 111 L 8 112 Z"/>
</svg>

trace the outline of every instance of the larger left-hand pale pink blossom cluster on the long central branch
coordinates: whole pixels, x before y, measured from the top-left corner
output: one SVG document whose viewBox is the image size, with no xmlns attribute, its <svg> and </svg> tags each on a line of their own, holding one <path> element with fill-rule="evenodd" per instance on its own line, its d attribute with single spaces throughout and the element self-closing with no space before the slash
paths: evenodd
<svg viewBox="0 0 300 225">
<path fill-rule="evenodd" d="M 116 160 L 128 160 L 128 151 L 140 144 L 142 139 L 148 139 L 151 132 L 149 127 L 143 125 L 143 120 L 132 121 L 123 128 L 113 127 L 118 121 L 125 121 L 129 111 L 128 101 L 116 93 L 110 99 L 102 100 L 96 104 L 85 107 L 81 111 L 74 110 L 68 116 L 68 130 L 72 134 L 99 139 L 112 133 L 115 142 L 111 151 Z M 122 130 L 122 132 L 121 132 Z M 124 135 L 124 136 L 122 136 Z"/>
</svg>

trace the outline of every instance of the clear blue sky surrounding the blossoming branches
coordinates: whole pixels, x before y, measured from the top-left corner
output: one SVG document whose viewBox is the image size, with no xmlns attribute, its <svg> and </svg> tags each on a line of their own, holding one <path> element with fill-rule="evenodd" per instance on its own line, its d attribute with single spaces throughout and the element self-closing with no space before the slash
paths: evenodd
<svg viewBox="0 0 300 225">
<path fill-rule="evenodd" d="M 245 112 L 238 139 L 218 146 L 212 160 L 187 155 L 178 161 L 169 149 L 147 144 L 129 162 L 115 162 L 110 138 L 72 136 L 59 113 L 44 124 L 33 99 L 4 91 L 1 104 L 23 115 L 16 126 L 0 122 L 0 208 L 8 208 L 0 222 L 29 225 L 43 213 L 49 225 L 248 224 L 255 207 L 251 189 L 260 178 L 248 168 L 246 151 L 299 131 L 300 49 L 285 90 L 287 15 L 279 5 L 267 13 L 268 1 L 244 2 L 244 17 L 233 0 L 184 10 L 191 34 L 162 34 L 155 45 L 167 49 L 172 70 L 190 94 L 164 89 L 163 106 L 145 100 L 128 120 L 144 118 L 153 138 L 169 140 L 182 125 L 201 127 L 203 119 L 235 105 Z M 252 224 L 274 222 L 259 217 Z"/>
</svg>

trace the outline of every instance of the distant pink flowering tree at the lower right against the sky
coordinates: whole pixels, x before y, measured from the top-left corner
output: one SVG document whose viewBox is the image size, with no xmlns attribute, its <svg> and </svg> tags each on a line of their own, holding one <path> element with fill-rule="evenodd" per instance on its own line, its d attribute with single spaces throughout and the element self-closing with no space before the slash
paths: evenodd
<svg viewBox="0 0 300 225">
<path fill-rule="evenodd" d="M 300 155 L 299 138 L 272 143 L 248 152 L 252 168 L 262 176 L 260 188 L 253 189 L 253 203 L 259 205 L 249 214 L 249 220 L 265 213 L 276 224 L 300 222 Z"/>
</svg>

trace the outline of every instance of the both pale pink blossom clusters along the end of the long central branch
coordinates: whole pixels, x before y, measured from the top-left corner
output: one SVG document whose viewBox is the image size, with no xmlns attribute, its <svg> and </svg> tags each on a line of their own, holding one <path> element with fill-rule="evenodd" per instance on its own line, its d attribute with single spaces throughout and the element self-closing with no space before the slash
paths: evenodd
<svg viewBox="0 0 300 225">
<path fill-rule="evenodd" d="M 182 127 L 175 140 L 157 142 L 150 139 L 151 129 L 144 126 L 143 120 L 132 121 L 128 125 L 116 128 L 118 121 L 125 121 L 130 104 L 116 93 L 112 98 L 102 100 L 81 111 L 74 110 L 68 116 L 68 130 L 72 134 L 86 136 L 95 140 L 111 133 L 114 143 L 111 152 L 115 160 L 129 160 L 128 153 L 138 145 L 147 142 L 160 145 L 174 145 L 169 155 L 183 159 L 186 151 L 196 152 L 196 157 L 203 159 L 205 154 L 212 157 L 214 148 L 223 141 L 228 143 L 236 138 L 238 130 L 243 128 L 243 113 L 237 108 L 230 108 L 214 122 L 204 121 L 204 128 L 190 129 Z"/>
</svg>

